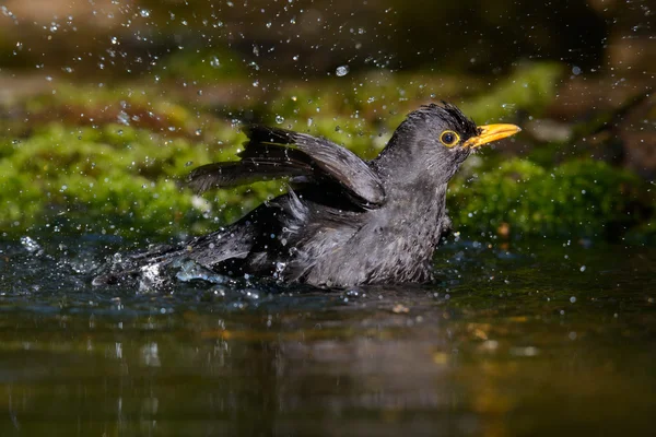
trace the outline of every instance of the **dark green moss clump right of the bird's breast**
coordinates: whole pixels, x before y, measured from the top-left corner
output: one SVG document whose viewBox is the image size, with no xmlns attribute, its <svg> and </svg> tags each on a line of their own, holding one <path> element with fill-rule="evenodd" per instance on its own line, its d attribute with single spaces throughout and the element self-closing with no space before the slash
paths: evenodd
<svg viewBox="0 0 656 437">
<path fill-rule="evenodd" d="M 468 232 L 502 225 L 520 235 L 617 237 L 641 220 L 647 201 L 641 180 L 606 163 L 581 160 L 546 169 L 514 158 L 499 168 L 457 178 L 452 215 Z"/>
</svg>

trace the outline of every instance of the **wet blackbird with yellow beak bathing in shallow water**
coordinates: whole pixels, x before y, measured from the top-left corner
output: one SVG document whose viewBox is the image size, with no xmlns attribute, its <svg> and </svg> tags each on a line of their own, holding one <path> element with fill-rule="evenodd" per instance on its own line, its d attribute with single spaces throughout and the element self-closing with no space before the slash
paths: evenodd
<svg viewBox="0 0 656 437">
<path fill-rule="evenodd" d="M 366 162 L 323 138 L 248 127 L 241 161 L 198 167 L 188 184 L 202 192 L 290 178 L 289 191 L 209 235 L 133 255 L 94 284 L 187 260 L 315 286 L 430 281 L 431 258 L 450 228 L 447 182 L 477 147 L 519 130 L 477 127 L 456 106 L 431 104 L 409 114 Z"/>
</svg>

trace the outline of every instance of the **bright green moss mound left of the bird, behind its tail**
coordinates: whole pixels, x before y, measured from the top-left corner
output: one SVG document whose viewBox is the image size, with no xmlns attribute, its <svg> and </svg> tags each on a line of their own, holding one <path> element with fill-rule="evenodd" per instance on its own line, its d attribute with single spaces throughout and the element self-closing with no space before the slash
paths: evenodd
<svg viewBox="0 0 656 437">
<path fill-rule="evenodd" d="M 219 208 L 183 188 L 179 179 L 191 163 L 234 155 L 244 137 L 225 132 L 231 147 L 118 125 L 94 129 L 50 123 L 25 140 L 5 140 L 0 145 L 5 151 L 0 160 L 0 226 L 20 233 L 56 223 L 124 235 L 213 228 L 214 222 L 235 218 L 279 188 L 269 184 L 224 190 Z"/>
</svg>

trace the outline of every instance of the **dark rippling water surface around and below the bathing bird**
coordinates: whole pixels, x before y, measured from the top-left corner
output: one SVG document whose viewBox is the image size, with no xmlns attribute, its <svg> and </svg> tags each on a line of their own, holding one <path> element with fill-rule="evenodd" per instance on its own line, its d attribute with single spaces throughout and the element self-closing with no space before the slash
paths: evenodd
<svg viewBox="0 0 656 437">
<path fill-rule="evenodd" d="M 441 283 L 94 288 L 0 246 L 1 436 L 653 435 L 656 250 L 457 243 Z M 116 241 L 109 241 L 116 247 Z"/>
</svg>

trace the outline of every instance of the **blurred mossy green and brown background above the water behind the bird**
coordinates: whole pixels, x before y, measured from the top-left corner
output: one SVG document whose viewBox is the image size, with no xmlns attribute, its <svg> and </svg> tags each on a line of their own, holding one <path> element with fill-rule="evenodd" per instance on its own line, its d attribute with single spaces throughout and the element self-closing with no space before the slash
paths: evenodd
<svg viewBox="0 0 656 437">
<path fill-rule="evenodd" d="M 520 135 L 452 182 L 456 229 L 656 236 L 656 31 L 647 1 L 7 0 L 0 232 L 166 239 L 226 223 L 282 182 L 194 196 L 239 126 L 374 156 L 448 101 Z"/>
</svg>

